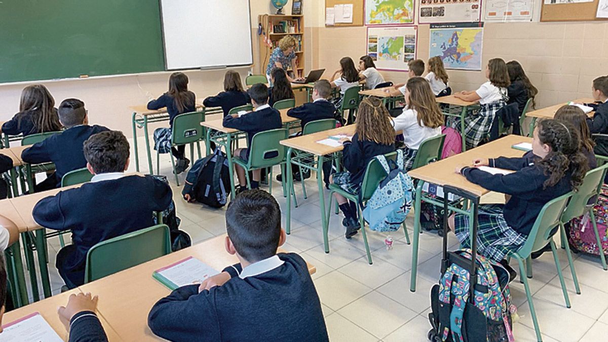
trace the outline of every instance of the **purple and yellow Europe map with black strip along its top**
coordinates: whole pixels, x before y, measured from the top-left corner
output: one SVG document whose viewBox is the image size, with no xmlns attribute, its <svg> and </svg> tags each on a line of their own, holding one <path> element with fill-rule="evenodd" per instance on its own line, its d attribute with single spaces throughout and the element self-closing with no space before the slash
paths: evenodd
<svg viewBox="0 0 608 342">
<path fill-rule="evenodd" d="M 481 70 L 483 23 L 431 24 L 429 57 L 446 69 Z"/>
</svg>

